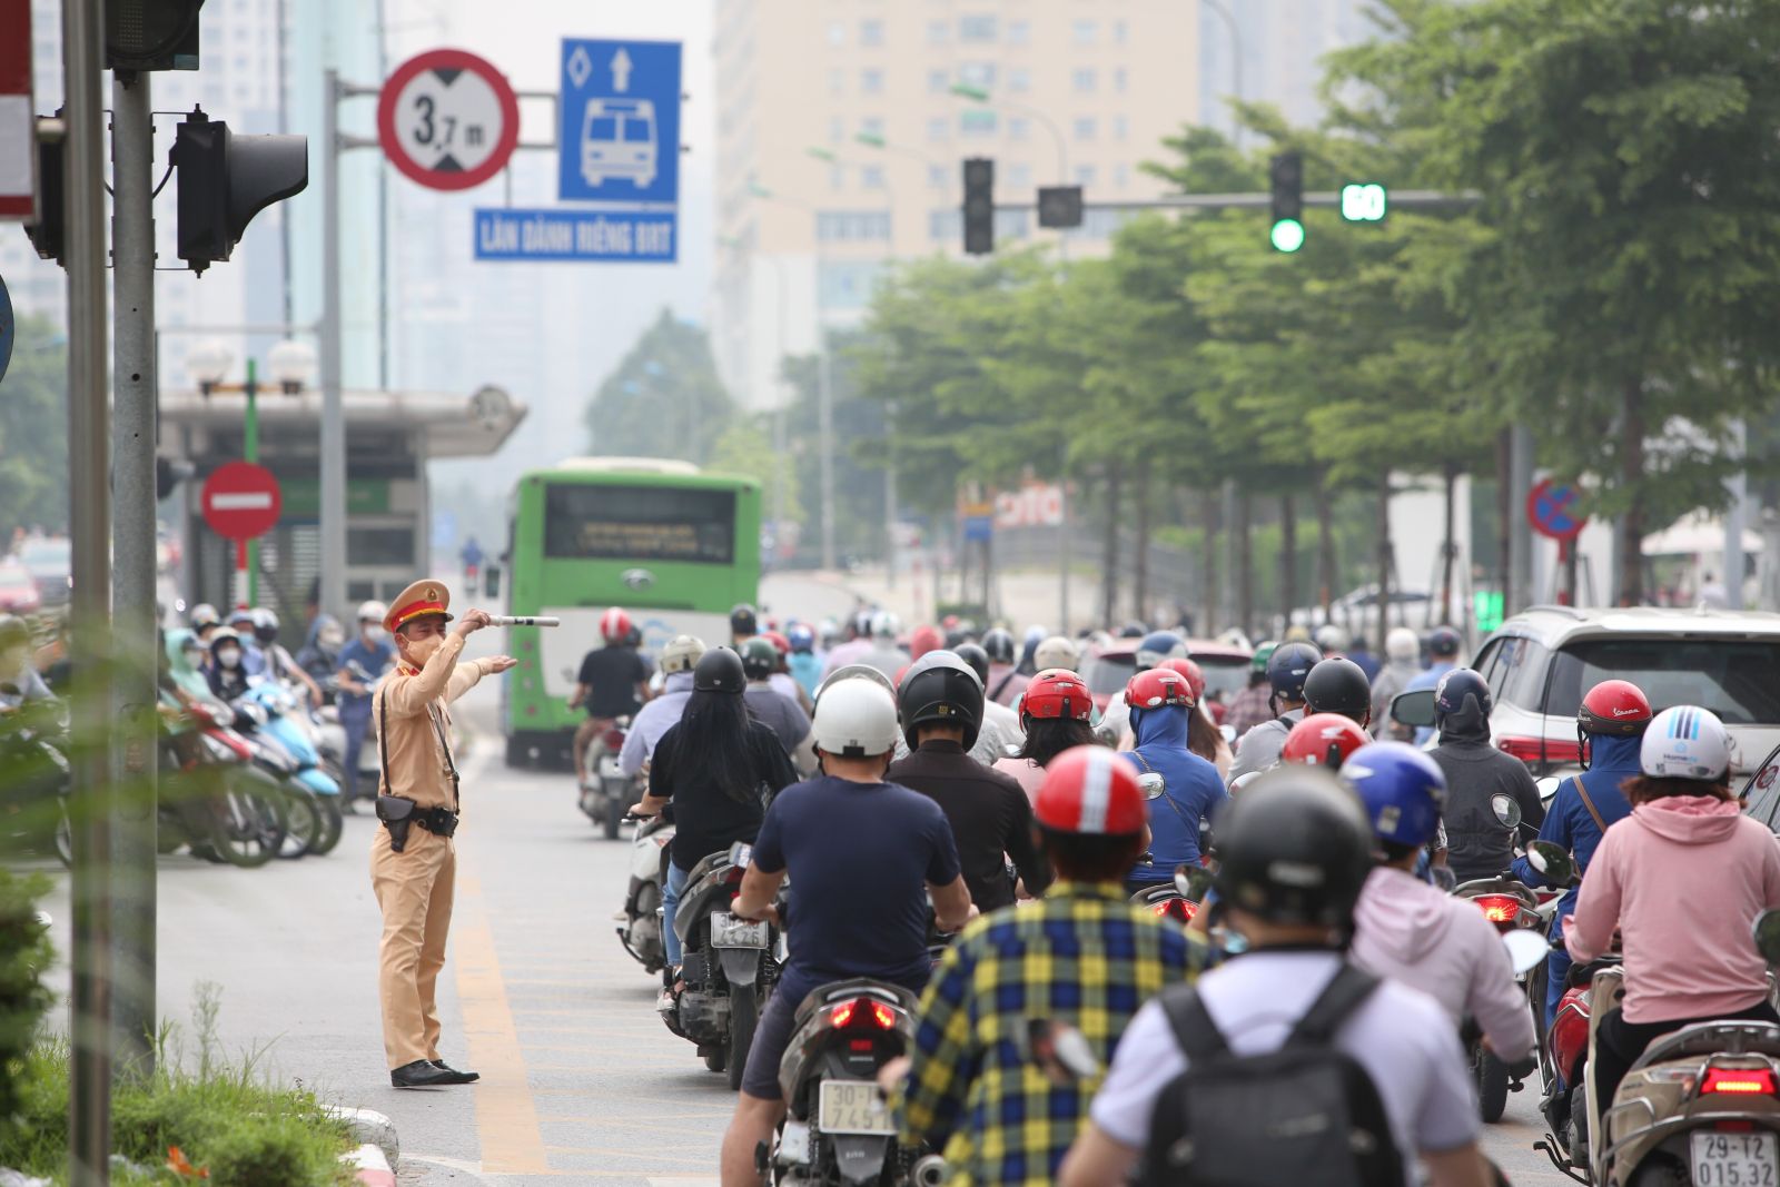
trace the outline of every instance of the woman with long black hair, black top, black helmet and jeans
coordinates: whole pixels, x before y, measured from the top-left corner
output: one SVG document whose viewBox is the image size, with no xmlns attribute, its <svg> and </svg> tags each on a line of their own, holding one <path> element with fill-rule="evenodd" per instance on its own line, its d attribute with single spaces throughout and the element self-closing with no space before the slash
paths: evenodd
<svg viewBox="0 0 1780 1187">
<path fill-rule="evenodd" d="M 662 892 L 669 989 L 680 972 L 673 916 L 692 867 L 735 842 L 753 842 L 767 801 L 797 781 L 778 735 L 748 712 L 746 690 L 742 657 L 730 648 L 705 651 L 692 669 L 685 712 L 655 744 L 650 790 L 632 808 L 653 817 L 673 804 L 675 838 Z"/>
</svg>

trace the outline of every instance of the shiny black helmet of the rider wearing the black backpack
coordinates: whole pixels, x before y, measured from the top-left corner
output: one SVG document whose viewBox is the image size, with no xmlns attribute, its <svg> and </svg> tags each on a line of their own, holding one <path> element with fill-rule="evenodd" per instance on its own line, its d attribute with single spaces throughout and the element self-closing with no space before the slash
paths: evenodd
<svg viewBox="0 0 1780 1187">
<path fill-rule="evenodd" d="M 1321 767 L 1274 767 L 1218 817 L 1218 895 L 1269 924 L 1347 931 L 1372 870 L 1360 799 Z"/>
</svg>

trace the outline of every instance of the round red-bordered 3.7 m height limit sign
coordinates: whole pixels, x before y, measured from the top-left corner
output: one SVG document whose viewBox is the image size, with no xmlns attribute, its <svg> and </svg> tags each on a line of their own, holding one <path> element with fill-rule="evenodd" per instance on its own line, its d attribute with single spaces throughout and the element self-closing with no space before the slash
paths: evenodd
<svg viewBox="0 0 1780 1187">
<path fill-rule="evenodd" d="M 377 141 L 404 174 L 466 190 L 500 173 L 520 141 L 520 100 L 484 59 L 429 50 L 402 62 L 377 96 Z"/>
</svg>

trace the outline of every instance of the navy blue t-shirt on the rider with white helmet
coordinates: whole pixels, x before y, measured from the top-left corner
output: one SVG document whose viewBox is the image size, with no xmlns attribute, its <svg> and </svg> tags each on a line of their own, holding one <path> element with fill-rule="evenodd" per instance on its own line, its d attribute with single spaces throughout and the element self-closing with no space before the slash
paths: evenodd
<svg viewBox="0 0 1780 1187">
<path fill-rule="evenodd" d="M 790 965 L 778 991 L 792 1002 L 849 977 L 927 984 L 927 883 L 958 877 L 936 803 L 895 783 L 794 783 L 767 808 L 753 865 L 790 874 Z"/>
</svg>

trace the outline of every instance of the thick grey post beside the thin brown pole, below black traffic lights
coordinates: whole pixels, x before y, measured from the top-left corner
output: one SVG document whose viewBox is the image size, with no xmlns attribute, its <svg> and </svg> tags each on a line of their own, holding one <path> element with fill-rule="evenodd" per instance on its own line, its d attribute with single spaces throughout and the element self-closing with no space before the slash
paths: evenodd
<svg viewBox="0 0 1780 1187">
<path fill-rule="evenodd" d="M 117 1070 L 148 1073 L 155 1048 L 155 128 L 150 73 L 112 80 L 112 295 L 116 317 L 110 719 L 112 1043 Z"/>
</svg>

